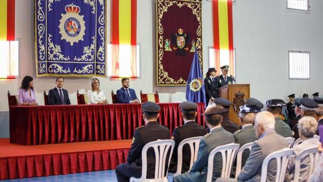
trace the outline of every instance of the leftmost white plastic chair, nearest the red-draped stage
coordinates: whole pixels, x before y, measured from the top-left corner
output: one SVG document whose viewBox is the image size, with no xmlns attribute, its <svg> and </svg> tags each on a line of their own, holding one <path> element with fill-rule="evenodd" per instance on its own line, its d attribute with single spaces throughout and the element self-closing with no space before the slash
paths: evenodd
<svg viewBox="0 0 323 182">
<path fill-rule="evenodd" d="M 141 170 L 141 177 L 135 178 L 130 177 L 130 182 L 132 181 L 163 181 L 167 182 L 167 172 L 165 174 L 165 168 L 169 168 L 173 150 L 174 150 L 175 142 L 173 140 L 157 140 L 154 142 L 149 142 L 146 144 L 142 151 L 141 151 L 141 157 L 142 157 L 142 170 Z M 147 179 L 147 151 L 149 148 L 153 148 L 155 152 L 155 175 L 153 179 Z M 171 153 L 169 153 L 169 150 L 171 148 Z M 168 159 L 168 166 L 166 165 L 166 159 L 167 154 L 169 153 L 169 159 Z"/>
</svg>

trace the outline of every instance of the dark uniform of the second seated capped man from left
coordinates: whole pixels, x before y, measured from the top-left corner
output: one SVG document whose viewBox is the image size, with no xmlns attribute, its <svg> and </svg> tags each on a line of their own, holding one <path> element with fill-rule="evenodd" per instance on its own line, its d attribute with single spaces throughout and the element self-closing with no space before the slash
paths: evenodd
<svg viewBox="0 0 323 182">
<path fill-rule="evenodd" d="M 170 164 L 169 172 L 176 172 L 177 170 L 177 148 L 178 145 L 185 139 L 195 136 L 204 136 L 206 134 L 206 128 L 198 125 L 195 121 L 188 121 L 183 126 L 179 126 L 174 129 L 172 139 L 175 141 L 175 148 Z M 191 150 L 188 145 L 183 147 L 183 163 L 182 173 L 189 170 L 191 160 Z"/>
</svg>

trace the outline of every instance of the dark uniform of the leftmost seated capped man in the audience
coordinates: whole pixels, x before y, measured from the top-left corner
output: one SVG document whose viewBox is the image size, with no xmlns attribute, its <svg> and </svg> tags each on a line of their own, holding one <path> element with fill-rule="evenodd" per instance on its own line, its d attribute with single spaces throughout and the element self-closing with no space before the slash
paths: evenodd
<svg viewBox="0 0 323 182">
<path fill-rule="evenodd" d="M 145 126 L 137 128 L 133 133 L 133 143 L 127 158 L 127 168 L 131 173 L 141 173 L 141 151 L 149 142 L 160 140 L 169 140 L 171 138 L 170 130 L 159 125 L 157 121 L 150 121 Z M 152 148 L 147 151 L 147 178 L 153 178 L 155 174 L 155 153 Z M 132 175 L 134 176 L 134 175 Z"/>
</svg>

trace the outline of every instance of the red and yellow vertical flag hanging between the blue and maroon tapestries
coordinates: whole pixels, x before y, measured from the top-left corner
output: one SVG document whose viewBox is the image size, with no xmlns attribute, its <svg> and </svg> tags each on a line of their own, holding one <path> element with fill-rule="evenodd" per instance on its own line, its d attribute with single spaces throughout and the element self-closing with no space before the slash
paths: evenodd
<svg viewBox="0 0 323 182">
<path fill-rule="evenodd" d="M 120 72 L 120 67 L 128 59 L 129 76 L 136 77 L 137 0 L 112 0 L 111 19 L 112 76 L 125 76 Z M 124 54 L 128 51 L 129 54 Z"/>
</svg>

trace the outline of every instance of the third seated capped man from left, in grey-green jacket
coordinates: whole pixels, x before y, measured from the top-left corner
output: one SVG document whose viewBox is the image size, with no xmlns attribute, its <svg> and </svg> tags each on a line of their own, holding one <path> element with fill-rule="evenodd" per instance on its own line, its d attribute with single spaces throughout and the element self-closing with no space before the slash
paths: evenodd
<svg viewBox="0 0 323 182">
<path fill-rule="evenodd" d="M 206 181 L 207 162 L 210 152 L 216 147 L 234 143 L 233 134 L 221 126 L 223 120 L 221 114 L 225 112 L 228 112 L 228 110 L 222 106 L 210 106 L 206 108 L 204 113 L 205 124 L 210 128 L 210 133 L 201 139 L 197 160 L 194 162 L 192 169 L 175 176 L 173 181 Z M 222 156 L 218 153 L 214 156 L 212 181 L 221 176 L 221 171 Z"/>
</svg>

